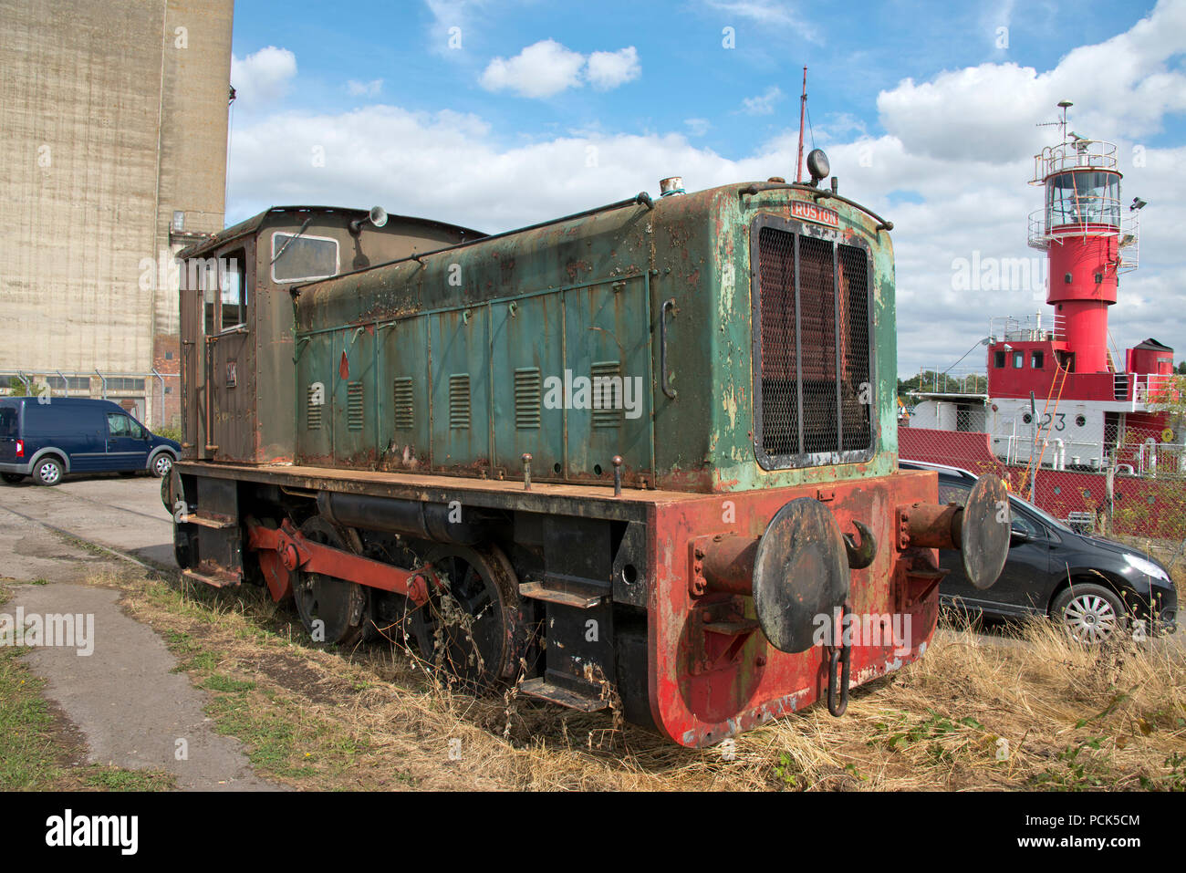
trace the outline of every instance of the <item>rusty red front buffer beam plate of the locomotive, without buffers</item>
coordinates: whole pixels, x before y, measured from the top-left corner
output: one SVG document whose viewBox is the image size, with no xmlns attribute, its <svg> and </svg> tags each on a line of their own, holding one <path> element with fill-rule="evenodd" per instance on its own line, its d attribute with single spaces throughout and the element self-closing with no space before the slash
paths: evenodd
<svg viewBox="0 0 1186 873">
<path fill-rule="evenodd" d="M 923 472 L 923 471 L 919 471 Z M 839 528 L 863 522 L 884 543 L 894 542 L 897 505 L 933 503 L 937 479 L 931 473 L 908 472 L 860 482 L 836 483 L 833 499 L 823 505 Z M 758 617 L 750 598 L 731 593 L 689 591 L 693 543 L 697 537 L 718 534 L 757 540 L 770 520 L 797 497 L 815 498 L 816 489 L 778 489 L 731 495 L 735 521 L 723 522 L 721 499 L 656 503 L 650 508 L 649 562 L 655 567 L 655 585 L 649 608 L 650 696 L 655 724 L 686 746 L 706 746 L 765 721 L 802 709 L 827 697 L 828 649 L 812 645 L 798 654 L 783 652 L 761 630 L 738 635 L 728 642 L 704 624 Z M 839 537 L 839 531 L 837 531 Z M 844 548 L 840 544 L 841 560 Z M 852 684 L 859 686 L 899 669 L 925 651 L 938 618 L 938 593 L 924 592 L 923 573 L 937 566 L 932 549 L 899 552 L 880 548 L 865 569 L 846 572 L 850 579 L 849 605 L 857 616 L 910 616 L 908 637 L 901 651 L 886 629 L 880 645 L 853 646 Z M 924 595 L 925 594 L 925 595 Z M 710 611 L 707 620 L 697 618 Z"/>
</svg>

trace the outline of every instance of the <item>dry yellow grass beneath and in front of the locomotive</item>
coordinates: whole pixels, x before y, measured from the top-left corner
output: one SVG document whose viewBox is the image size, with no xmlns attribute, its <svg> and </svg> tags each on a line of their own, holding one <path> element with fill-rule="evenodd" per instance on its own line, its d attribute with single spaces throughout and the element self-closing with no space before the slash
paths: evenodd
<svg viewBox="0 0 1186 873">
<path fill-rule="evenodd" d="M 824 707 L 687 750 L 606 714 L 449 688 L 398 649 L 306 645 L 261 592 L 95 580 L 165 635 L 256 770 L 302 788 L 492 790 L 1182 789 L 1180 641 L 1088 649 L 940 627 L 926 656 Z"/>
</svg>

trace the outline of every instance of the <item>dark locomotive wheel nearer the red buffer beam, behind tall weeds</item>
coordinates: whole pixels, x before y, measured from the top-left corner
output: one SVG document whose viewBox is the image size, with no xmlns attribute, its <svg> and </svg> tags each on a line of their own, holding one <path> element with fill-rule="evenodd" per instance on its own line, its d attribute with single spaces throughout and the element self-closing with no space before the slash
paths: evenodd
<svg viewBox="0 0 1186 873">
<path fill-rule="evenodd" d="M 466 684 L 489 687 L 515 677 L 527 650 L 518 579 L 495 546 L 435 546 L 426 554 L 445 584 L 408 616 L 421 652 Z"/>
</svg>

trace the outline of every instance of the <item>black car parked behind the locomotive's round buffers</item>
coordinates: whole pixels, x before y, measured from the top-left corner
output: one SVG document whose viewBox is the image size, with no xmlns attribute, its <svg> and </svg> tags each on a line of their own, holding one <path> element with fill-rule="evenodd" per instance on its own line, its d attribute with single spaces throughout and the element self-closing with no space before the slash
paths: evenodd
<svg viewBox="0 0 1186 873">
<path fill-rule="evenodd" d="M 939 502 L 963 503 L 976 476 L 958 467 L 900 461 L 906 470 L 935 470 Z M 973 586 L 959 554 L 940 552 L 951 572 L 939 584 L 944 606 L 993 617 L 1050 616 L 1088 643 L 1117 630 L 1133 633 L 1175 629 L 1178 592 L 1166 568 L 1111 540 L 1084 536 L 1032 503 L 1009 496 L 1013 535 L 996 584 Z"/>
</svg>

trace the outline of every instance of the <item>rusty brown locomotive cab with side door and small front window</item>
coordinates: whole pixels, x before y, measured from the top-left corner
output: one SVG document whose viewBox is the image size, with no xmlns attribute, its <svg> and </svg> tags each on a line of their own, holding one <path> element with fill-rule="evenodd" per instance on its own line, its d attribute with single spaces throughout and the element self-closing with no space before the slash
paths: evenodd
<svg viewBox="0 0 1186 873">
<path fill-rule="evenodd" d="M 185 458 L 293 459 L 291 288 L 482 236 L 378 208 L 276 206 L 179 253 Z"/>
</svg>

